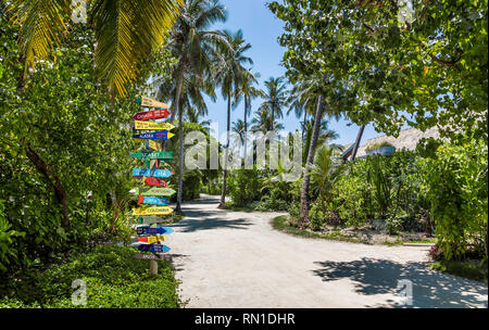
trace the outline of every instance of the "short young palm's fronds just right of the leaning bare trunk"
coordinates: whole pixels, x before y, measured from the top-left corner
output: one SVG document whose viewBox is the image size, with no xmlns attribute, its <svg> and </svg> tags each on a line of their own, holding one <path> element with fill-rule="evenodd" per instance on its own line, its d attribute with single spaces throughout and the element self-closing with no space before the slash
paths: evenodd
<svg viewBox="0 0 489 330">
<path fill-rule="evenodd" d="M 333 196 L 331 190 L 343 170 L 339 145 L 322 144 L 316 149 L 311 179 L 321 199 L 323 214 Z"/>
</svg>

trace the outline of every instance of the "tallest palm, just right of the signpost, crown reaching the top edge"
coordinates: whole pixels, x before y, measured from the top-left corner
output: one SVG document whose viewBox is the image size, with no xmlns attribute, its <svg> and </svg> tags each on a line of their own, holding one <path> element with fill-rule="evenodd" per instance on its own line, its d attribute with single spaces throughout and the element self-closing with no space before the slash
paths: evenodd
<svg viewBox="0 0 489 330">
<path fill-rule="evenodd" d="M 217 48 L 229 49 L 229 43 L 221 31 L 209 30 L 213 23 L 224 21 L 226 21 L 225 8 L 217 0 L 186 0 L 167 45 L 172 54 L 178 59 L 174 74 L 173 110 L 170 117 L 170 123 L 173 123 L 175 115 L 178 113 L 180 156 L 178 158 L 178 192 L 175 211 L 179 211 L 181 207 L 181 192 L 184 189 L 184 109 L 180 106 L 183 105 L 180 99 L 184 82 L 188 76 L 193 77 L 198 81 L 206 81 L 212 63 L 217 56 L 215 50 Z M 197 84 L 197 89 L 203 87 L 203 84 Z"/>
</svg>

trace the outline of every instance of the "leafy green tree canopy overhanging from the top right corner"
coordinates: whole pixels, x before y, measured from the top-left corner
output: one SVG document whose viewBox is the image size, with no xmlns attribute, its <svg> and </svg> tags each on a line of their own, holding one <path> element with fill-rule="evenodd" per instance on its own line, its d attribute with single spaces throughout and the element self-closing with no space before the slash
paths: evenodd
<svg viewBox="0 0 489 330">
<path fill-rule="evenodd" d="M 442 137 L 487 140 L 488 1 L 412 3 L 405 21 L 399 1 L 272 1 L 287 76 L 324 75 L 326 99 L 386 134 L 438 124 Z"/>
</svg>

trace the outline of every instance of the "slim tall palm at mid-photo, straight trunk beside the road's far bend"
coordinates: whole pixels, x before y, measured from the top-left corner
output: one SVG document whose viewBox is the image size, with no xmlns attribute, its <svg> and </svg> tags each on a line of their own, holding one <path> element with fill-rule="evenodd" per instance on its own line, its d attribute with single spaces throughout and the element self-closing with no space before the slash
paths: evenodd
<svg viewBox="0 0 489 330">
<path fill-rule="evenodd" d="M 231 97 L 239 89 L 243 75 L 247 69 L 244 64 L 253 64 L 250 58 L 244 55 L 244 52 L 251 48 L 250 43 L 244 43 L 242 31 L 239 29 L 236 34 L 231 34 L 228 30 L 224 31 L 224 35 L 230 45 L 230 48 L 220 46 L 220 61 L 217 61 L 215 67 L 215 77 L 221 85 L 221 92 L 223 98 L 227 99 L 227 138 L 226 149 L 224 151 L 224 158 L 227 162 L 228 148 L 229 148 L 229 131 L 230 131 L 230 110 L 231 110 Z M 223 189 L 221 194 L 221 203 L 218 207 L 226 207 L 226 178 L 227 178 L 227 164 L 224 165 L 223 173 Z"/>
</svg>

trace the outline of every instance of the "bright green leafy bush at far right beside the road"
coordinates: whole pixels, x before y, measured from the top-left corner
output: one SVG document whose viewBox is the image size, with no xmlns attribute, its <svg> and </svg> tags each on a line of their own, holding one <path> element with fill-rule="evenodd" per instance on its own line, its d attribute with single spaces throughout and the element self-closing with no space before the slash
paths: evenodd
<svg viewBox="0 0 489 330">
<path fill-rule="evenodd" d="M 423 162 L 422 192 L 431 206 L 438 244 L 448 259 L 472 248 L 487 259 L 488 163 L 485 141 L 443 144 Z"/>
</svg>

